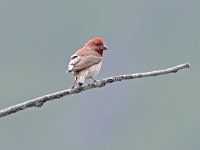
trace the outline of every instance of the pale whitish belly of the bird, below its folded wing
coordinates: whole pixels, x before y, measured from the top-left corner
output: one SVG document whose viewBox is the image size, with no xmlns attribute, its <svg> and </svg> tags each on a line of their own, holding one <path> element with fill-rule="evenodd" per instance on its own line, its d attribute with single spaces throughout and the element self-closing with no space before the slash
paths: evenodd
<svg viewBox="0 0 200 150">
<path fill-rule="evenodd" d="M 102 62 L 89 67 L 86 79 L 94 78 L 99 73 L 99 71 L 101 69 L 101 65 L 102 65 Z"/>
</svg>

